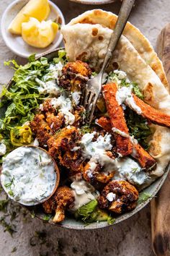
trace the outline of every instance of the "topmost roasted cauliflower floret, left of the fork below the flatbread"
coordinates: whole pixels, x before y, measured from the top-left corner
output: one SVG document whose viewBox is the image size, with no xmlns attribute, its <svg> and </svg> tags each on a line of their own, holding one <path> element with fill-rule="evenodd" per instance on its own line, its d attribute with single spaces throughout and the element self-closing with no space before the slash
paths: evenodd
<svg viewBox="0 0 170 256">
<path fill-rule="evenodd" d="M 82 61 L 68 62 L 62 69 L 59 85 L 72 92 L 81 91 L 91 76 L 89 65 Z"/>
</svg>

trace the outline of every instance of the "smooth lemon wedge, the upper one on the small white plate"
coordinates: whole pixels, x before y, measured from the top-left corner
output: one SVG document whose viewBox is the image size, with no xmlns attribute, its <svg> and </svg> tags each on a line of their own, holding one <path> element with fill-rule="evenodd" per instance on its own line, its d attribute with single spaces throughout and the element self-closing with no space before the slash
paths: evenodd
<svg viewBox="0 0 170 256">
<path fill-rule="evenodd" d="M 42 21 L 47 19 L 50 13 L 50 6 L 48 0 L 30 0 L 14 17 L 8 27 L 10 33 L 21 35 L 22 22 L 27 22 L 30 17 L 35 17 L 37 20 Z"/>
</svg>

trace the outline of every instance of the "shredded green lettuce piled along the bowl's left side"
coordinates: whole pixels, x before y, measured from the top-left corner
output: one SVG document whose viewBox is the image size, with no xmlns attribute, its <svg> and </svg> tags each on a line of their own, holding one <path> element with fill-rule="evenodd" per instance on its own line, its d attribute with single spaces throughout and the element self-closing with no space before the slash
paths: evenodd
<svg viewBox="0 0 170 256">
<path fill-rule="evenodd" d="M 24 66 L 14 60 L 4 62 L 15 70 L 12 86 L 4 87 L 0 95 L 0 108 L 4 109 L 4 114 L 0 116 L 0 140 L 6 145 L 7 152 L 15 146 L 11 141 L 10 131 L 14 127 L 21 127 L 26 121 L 32 121 L 36 108 L 48 97 L 38 90 L 40 84 L 37 79 L 42 80 L 49 73 L 50 63 L 56 64 L 59 61 L 66 61 L 66 51 L 59 51 L 58 58 L 50 62 L 45 57 L 36 60 L 35 55 L 30 56 L 29 63 Z M 11 137 L 14 138 L 13 135 Z"/>
</svg>

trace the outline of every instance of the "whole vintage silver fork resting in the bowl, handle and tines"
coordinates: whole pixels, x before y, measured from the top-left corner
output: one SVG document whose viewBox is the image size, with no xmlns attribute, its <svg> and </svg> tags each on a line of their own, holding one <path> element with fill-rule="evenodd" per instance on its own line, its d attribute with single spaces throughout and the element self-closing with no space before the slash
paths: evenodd
<svg viewBox="0 0 170 256">
<path fill-rule="evenodd" d="M 128 21 L 128 17 L 130 16 L 130 12 L 133 8 L 135 0 L 124 0 L 120 9 L 120 13 L 115 25 L 115 30 L 113 31 L 111 38 L 109 40 L 109 45 L 107 48 L 107 54 L 104 56 L 104 62 L 102 65 L 102 69 L 96 77 L 91 78 L 87 84 L 84 91 L 84 108 L 86 109 L 86 119 L 91 124 L 93 119 L 94 109 L 97 104 L 97 99 L 99 97 L 99 93 L 102 89 L 102 77 L 104 74 L 104 70 L 109 64 L 110 59 L 112 58 L 112 53 L 117 46 L 117 43 L 122 35 L 122 31 Z"/>
</svg>

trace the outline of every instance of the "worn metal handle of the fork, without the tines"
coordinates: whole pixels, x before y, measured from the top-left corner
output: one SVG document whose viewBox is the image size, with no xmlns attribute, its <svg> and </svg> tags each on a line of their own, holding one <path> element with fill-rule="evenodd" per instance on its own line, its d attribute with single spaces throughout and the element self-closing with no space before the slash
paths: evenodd
<svg viewBox="0 0 170 256">
<path fill-rule="evenodd" d="M 120 12 L 117 18 L 117 22 L 115 25 L 115 30 L 111 35 L 111 38 L 109 40 L 109 45 L 107 48 L 107 54 L 104 57 L 104 62 L 101 69 L 102 73 L 106 69 L 107 64 L 109 63 L 109 60 L 112 58 L 113 51 L 115 50 L 118 40 L 122 35 L 122 31 L 124 30 L 124 27 L 128 22 L 128 17 L 130 16 L 130 12 L 133 8 L 134 3 L 135 3 L 135 0 L 124 0 L 122 3 L 122 6 L 120 8 Z"/>
</svg>

